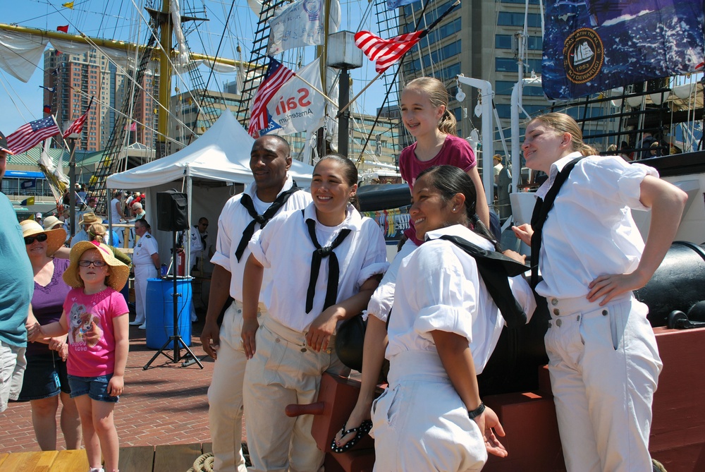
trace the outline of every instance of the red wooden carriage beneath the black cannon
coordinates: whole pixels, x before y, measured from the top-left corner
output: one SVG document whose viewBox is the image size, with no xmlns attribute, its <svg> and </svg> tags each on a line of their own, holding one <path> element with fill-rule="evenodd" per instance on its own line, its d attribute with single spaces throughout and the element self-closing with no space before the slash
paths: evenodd
<svg viewBox="0 0 705 472">
<path fill-rule="evenodd" d="M 668 472 L 705 471 L 705 329 L 655 328 L 663 371 L 654 397 L 651 456 Z M 352 411 L 359 382 L 324 375 L 319 401 L 325 412 L 316 416 L 313 434 L 319 447 L 330 441 Z M 565 471 L 548 370 L 539 370 L 537 392 L 484 397 L 497 412 L 507 435 L 501 441 L 509 456 L 490 456 L 484 472 Z M 333 407 L 333 404 L 335 406 Z M 326 471 L 371 471 L 372 440 L 367 437 L 345 454 L 327 454 Z"/>
</svg>

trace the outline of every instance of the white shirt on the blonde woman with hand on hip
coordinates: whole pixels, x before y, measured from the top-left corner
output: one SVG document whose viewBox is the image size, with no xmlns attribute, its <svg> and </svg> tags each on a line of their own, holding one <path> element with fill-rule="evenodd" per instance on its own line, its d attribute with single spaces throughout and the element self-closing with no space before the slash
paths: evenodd
<svg viewBox="0 0 705 472">
<path fill-rule="evenodd" d="M 560 169 L 575 157 L 580 153 L 551 164 L 537 197 L 545 197 Z M 649 210 L 639 201 L 647 175 L 658 177 L 658 172 L 616 156 L 589 156 L 575 164 L 544 223 L 539 251 L 544 280 L 537 285 L 539 295 L 581 297 L 602 274 L 634 272 L 644 240 L 630 208 Z"/>
</svg>

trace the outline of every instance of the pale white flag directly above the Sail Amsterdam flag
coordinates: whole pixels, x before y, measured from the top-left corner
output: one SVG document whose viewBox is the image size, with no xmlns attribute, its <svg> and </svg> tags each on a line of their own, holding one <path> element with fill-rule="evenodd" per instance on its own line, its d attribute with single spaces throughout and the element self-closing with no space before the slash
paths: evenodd
<svg viewBox="0 0 705 472">
<path fill-rule="evenodd" d="M 274 56 L 295 47 L 323 44 L 325 39 L 324 0 L 296 0 L 281 8 L 269 20 L 267 54 Z M 331 1 L 329 34 L 341 25 L 341 4 Z"/>
</svg>

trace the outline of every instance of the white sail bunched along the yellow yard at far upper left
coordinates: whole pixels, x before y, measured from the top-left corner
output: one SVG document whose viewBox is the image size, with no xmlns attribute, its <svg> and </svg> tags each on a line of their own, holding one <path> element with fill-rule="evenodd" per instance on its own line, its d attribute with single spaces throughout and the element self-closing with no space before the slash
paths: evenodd
<svg viewBox="0 0 705 472">
<path fill-rule="evenodd" d="M 69 54 L 84 54 L 95 49 L 91 44 L 72 40 L 57 40 L 24 32 L 0 31 L 0 68 L 23 82 L 28 82 L 36 69 L 41 68 L 44 49 L 47 44 Z M 134 52 L 101 47 L 100 51 L 123 68 L 134 56 Z"/>
</svg>

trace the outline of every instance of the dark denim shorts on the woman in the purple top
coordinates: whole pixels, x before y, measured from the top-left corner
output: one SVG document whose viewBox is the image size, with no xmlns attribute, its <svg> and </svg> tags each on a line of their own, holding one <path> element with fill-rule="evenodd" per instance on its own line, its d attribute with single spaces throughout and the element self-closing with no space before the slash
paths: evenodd
<svg viewBox="0 0 705 472">
<path fill-rule="evenodd" d="M 66 363 L 56 351 L 28 354 L 25 379 L 18 401 L 56 397 L 59 392 L 71 393 Z"/>
</svg>

